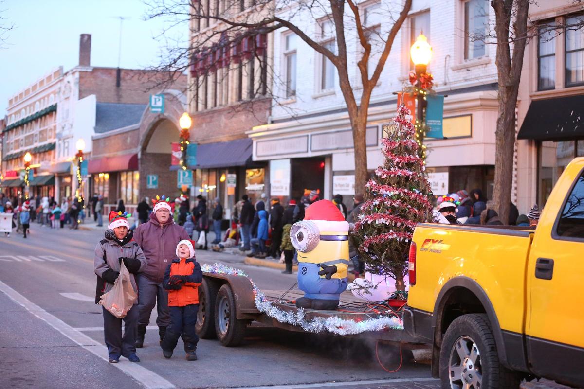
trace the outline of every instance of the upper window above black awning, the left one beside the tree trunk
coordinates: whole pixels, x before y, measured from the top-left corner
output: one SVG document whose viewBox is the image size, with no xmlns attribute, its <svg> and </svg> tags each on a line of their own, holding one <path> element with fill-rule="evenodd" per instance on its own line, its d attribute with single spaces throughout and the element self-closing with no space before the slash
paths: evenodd
<svg viewBox="0 0 584 389">
<path fill-rule="evenodd" d="M 555 22 L 546 23 L 538 29 L 537 44 L 537 90 L 555 89 Z"/>
</svg>

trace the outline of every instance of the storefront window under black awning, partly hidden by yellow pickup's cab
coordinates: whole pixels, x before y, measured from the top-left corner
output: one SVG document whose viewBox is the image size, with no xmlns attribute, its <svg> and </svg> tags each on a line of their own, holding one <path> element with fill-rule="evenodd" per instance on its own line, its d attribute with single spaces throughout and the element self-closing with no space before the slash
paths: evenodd
<svg viewBox="0 0 584 389">
<path fill-rule="evenodd" d="M 540 207 L 550 197 L 551 190 L 561 176 L 566 165 L 575 157 L 574 141 L 541 142 L 539 163 L 539 193 Z"/>
</svg>

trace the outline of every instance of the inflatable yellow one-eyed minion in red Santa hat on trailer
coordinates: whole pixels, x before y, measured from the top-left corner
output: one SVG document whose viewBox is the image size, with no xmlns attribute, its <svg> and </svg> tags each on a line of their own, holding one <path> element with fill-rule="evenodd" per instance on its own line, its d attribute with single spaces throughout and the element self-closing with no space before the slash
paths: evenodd
<svg viewBox="0 0 584 389">
<path fill-rule="evenodd" d="M 332 201 L 320 200 L 294 223 L 290 239 L 298 251 L 298 288 L 304 292 L 296 306 L 336 309 L 347 287 L 349 223 Z"/>
</svg>

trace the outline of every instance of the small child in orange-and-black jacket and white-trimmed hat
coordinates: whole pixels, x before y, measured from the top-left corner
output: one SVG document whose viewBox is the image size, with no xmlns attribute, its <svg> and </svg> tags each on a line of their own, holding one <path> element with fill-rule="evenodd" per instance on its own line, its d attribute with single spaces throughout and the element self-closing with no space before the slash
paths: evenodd
<svg viewBox="0 0 584 389">
<path fill-rule="evenodd" d="M 185 342 L 186 360 L 197 360 L 199 336 L 194 330 L 199 311 L 199 285 L 203 272 L 194 258 L 194 242 L 183 239 L 176 246 L 176 257 L 166 268 L 162 285 L 168 290 L 171 325 L 162 339 L 162 355 L 171 358 L 180 335 Z"/>
</svg>

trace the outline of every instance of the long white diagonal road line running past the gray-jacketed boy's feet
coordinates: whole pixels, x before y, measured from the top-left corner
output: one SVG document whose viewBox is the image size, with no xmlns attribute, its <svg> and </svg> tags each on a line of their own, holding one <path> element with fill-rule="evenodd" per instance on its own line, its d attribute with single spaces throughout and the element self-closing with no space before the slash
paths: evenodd
<svg viewBox="0 0 584 389">
<path fill-rule="evenodd" d="M 29 311 L 31 314 L 40 318 L 40 320 L 45 321 L 55 330 L 61 332 L 61 334 L 65 335 L 65 337 L 71 339 L 82 348 L 86 349 L 87 351 L 98 356 L 98 358 L 103 359 L 107 362 L 108 356 L 106 346 L 93 340 L 92 338 L 83 334 L 81 331 L 71 327 L 70 325 L 62 321 L 60 318 L 51 315 L 46 310 L 30 302 L 29 299 L 27 299 L 20 293 L 16 292 L 16 290 L 12 289 L 10 286 L 6 285 L 2 281 L 0 281 L 0 291 L 4 292 L 6 296 L 10 297 L 10 299 L 12 299 L 13 302 L 24 307 L 24 309 Z M 176 388 L 170 381 L 165 380 L 163 377 L 159 376 L 154 372 L 151 372 L 150 370 L 138 365 L 137 363 L 132 362 L 126 363 L 124 361 L 122 363 L 112 363 L 111 365 L 113 367 L 117 367 L 117 369 L 120 369 L 127 376 L 130 376 L 132 379 L 134 379 L 139 384 L 148 389 Z"/>
</svg>

